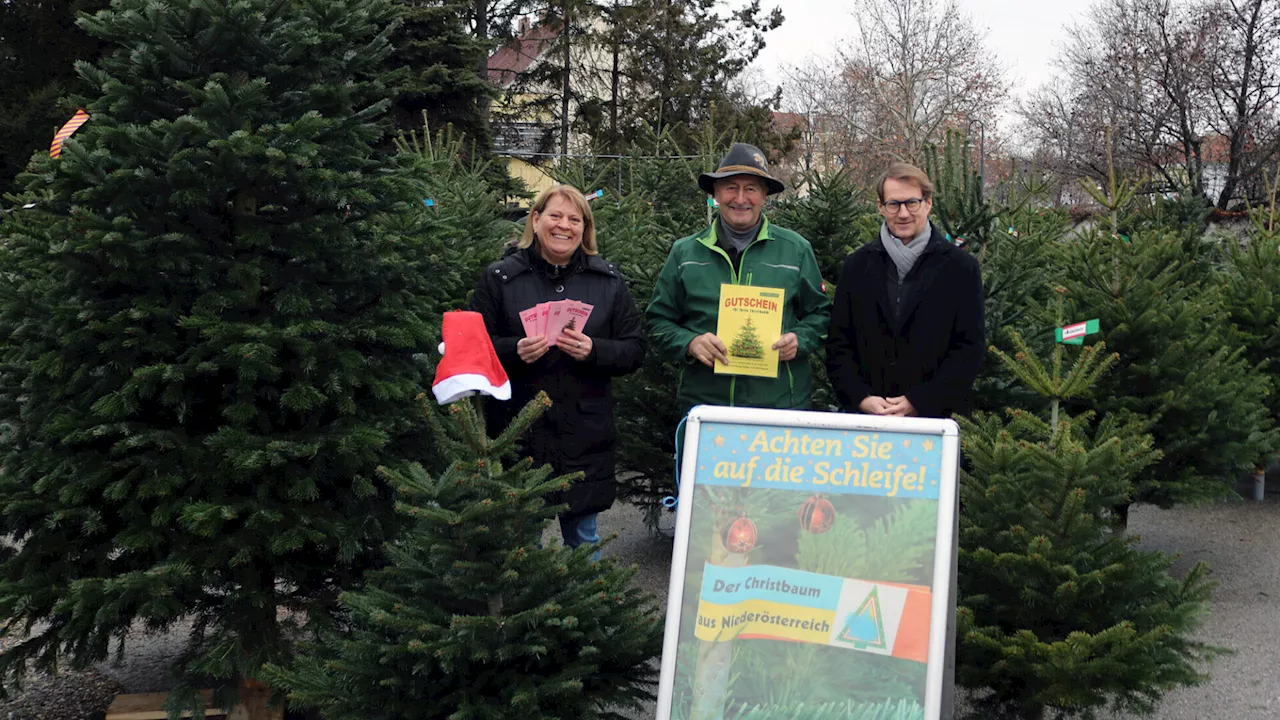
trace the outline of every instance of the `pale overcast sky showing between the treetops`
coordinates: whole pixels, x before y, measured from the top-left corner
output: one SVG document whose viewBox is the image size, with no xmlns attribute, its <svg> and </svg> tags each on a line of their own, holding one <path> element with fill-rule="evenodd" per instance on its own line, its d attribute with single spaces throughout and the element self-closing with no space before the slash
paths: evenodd
<svg viewBox="0 0 1280 720">
<path fill-rule="evenodd" d="M 942 4 L 945 0 L 940 0 Z M 1052 77 L 1051 61 L 1066 28 L 1082 19 L 1092 0 L 959 0 L 973 23 L 987 32 L 987 46 L 1004 61 L 1014 96 L 1020 97 Z M 776 68 L 808 55 L 829 56 L 858 32 L 858 0 L 764 0 L 782 8 L 786 22 L 765 36 L 768 46 L 755 67 L 777 82 Z"/>
</svg>

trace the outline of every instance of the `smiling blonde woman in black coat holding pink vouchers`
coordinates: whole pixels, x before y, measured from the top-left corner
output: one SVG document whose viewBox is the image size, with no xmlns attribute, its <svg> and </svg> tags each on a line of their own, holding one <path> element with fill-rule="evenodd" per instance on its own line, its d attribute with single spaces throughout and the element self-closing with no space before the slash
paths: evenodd
<svg viewBox="0 0 1280 720">
<path fill-rule="evenodd" d="M 556 300 L 591 305 L 586 325 L 525 337 L 520 314 Z M 511 401 L 485 404 L 490 433 L 547 391 L 552 406 L 525 438 L 526 451 L 557 474 L 584 473 L 548 501 L 568 505 L 559 516 L 564 544 L 599 542 L 596 514 L 617 496 L 612 380 L 640 366 L 646 341 L 622 273 L 596 252 L 581 192 L 557 184 L 538 195 L 520 241 L 485 268 L 471 309 L 484 315 L 511 378 Z"/>
</svg>

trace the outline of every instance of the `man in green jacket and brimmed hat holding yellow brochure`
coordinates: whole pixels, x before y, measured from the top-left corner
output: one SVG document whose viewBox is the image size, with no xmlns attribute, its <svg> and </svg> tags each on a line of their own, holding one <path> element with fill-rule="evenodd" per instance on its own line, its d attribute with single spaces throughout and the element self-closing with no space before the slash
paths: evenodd
<svg viewBox="0 0 1280 720">
<path fill-rule="evenodd" d="M 813 395 L 809 356 L 823 346 L 831 300 L 809 241 L 764 217 L 765 197 L 783 184 L 769 174 L 759 147 L 736 142 L 698 186 L 716 199 L 719 214 L 709 228 L 676 241 L 646 311 L 653 351 L 682 364 L 681 411 L 694 405 L 806 409 Z M 777 378 L 714 373 L 717 360 L 730 361 L 716 336 L 723 283 L 786 292 L 782 336 L 760 338 L 778 351 Z"/>
</svg>

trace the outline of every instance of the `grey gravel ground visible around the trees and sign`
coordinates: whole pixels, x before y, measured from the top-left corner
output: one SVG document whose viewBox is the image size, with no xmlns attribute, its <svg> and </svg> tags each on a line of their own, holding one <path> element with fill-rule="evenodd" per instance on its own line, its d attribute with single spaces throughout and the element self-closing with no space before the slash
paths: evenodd
<svg viewBox="0 0 1280 720">
<path fill-rule="evenodd" d="M 1242 493 L 1251 487 L 1242 484 Z M 673 516 L 663 515 L 669 532 Z M 1170 693 L 1158 720 L 1275 720 L 1280 717 L 1280 471 L 1268 475 L 1265 502 L 1231 502 L 1194 509 L 1135 507 L 1130 533 L 1142 546 L 1179 555 L 1176 573 L 1204 560 L 1220 583 L 1197 637 L 1230 648 L 1207 669 L 1206 684 Z M 666 607 L 672 542 L 654 536 L 639 510 L 616 506 L 600 516 L 600 533 L 617 533 L 604 551 L 639 568 L 636 583 Z M 548 530 L 548 538 L 552 530 Z M 138 634 L 122 665 L 105 662 L 84 673 L 33 678 L 0 701 L 0 720 L 91 720 L 102 717 L 116 692 L 160 692 L 170 684 L 168 662 L 180 646 L 180 629 Z M 652 717 L 648 711 L 636 720 Z"/>
</svg>

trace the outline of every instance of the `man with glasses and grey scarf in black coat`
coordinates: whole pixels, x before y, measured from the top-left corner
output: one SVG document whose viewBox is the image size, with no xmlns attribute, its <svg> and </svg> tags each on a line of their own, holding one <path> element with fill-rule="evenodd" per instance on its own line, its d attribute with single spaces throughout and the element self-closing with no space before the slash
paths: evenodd
<svg viewBox="0 0 1280 720">
<path fill-rule="evenodd" d="M 982 272 L 929 222 L 933 183 L 895 163 L 877 186 L 879 237 L 840 272 L 827 373 L 846 411 L 966 413 L 986 354 Z"/>
</svg>

